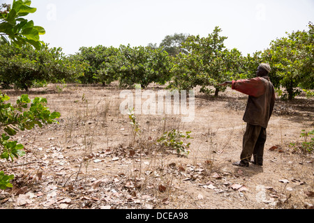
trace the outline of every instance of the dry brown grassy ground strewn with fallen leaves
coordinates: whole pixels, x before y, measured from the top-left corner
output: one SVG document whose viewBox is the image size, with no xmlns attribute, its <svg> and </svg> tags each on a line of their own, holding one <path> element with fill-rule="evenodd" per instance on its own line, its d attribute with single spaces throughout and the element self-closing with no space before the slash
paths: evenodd
<svg viewBox="0 0 314 223">
<path fill-rule="evenodd" d="M 149 86 L 153 91 L 159 88 Z M 246 107 L 246 97 L 240 93 L 228 90 L 217 99 L 197 94 L 191 123 L 182 123 L 176 115 L 137 115 L 141 132 L 135 135 L 128 116 L 119 112 L 120 91 L 117 83 L 105 88 L 68 84 L 62 91 L 54 85 L 31 89 L 30 98 L 47 98 L 48 107 L 60 112 L 61 118 L 59 125 L 17 135 L 29 153 L 13 164 L 3 164 L 17 179 L 14 190 L 3 192 L 1 205 L 61 208 L 57 201 L 49 203 L 47 188 L 54 188 L 58 199 L 70 197 L 66 208 L 313 205 L 313 197 L 306 194 L 313 190 L 313 155 L 292 153 L 288 146 L 300 140 L 302 129 L 313 128 L 313 100 L 304 104 L 304 98 L 299 98 L 289 105 L 278 101 L 267 129 L 264 167 L 237 168 L 231 162 L 241 153 Z M 22 92 L 6 93 L 14 101 Z M 163 132 L 172 129 L 192 132 L 188 157 L 156 144 Z M 273 145 L 283 151 L 269 151 Z M 43 176 L 36 178 L 38 173 Z M 247 190 L 234 190 L 234 184 Z M 19 205 L 16 191 L 23 186 L 27 192 L 44 195 Z"/>
</svg>

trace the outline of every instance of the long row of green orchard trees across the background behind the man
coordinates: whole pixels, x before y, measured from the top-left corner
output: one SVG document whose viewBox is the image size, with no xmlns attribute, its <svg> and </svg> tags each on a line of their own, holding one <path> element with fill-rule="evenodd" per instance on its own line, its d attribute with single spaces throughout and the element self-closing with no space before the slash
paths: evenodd
<svg viewBox="0 0 314 223">
<path fill-rule="evenodd" d="M 33 27 L 37 34 L 44 31 Z M 227 37 L 220 32 L 216 26 L 207 37 L 175 33 L 166 36 L 158 47 L 156 44 L 81 47 L 70 56 L 65 56 L 61 48 L 50 48 L 44 43 L 40 48 L 38 44 L 17 47 L 19 41 L 2 41 L 0 82 L 3 88 L 15 86 L 26 91 L 47 82 L 105 85 L 119 81 L 121 87 L 127 88 L 135 84 L 145 88 L 153 82 L 168 82 L 171 89 L 189 90 L 200 86 L 201 92 L 218 96 L 225 90 L 219 83 L 255 77 L 257 66 L 269 63 L 271 81 L 277 89 L 284 87 L 283 97 L 294 98 L 299 88 L 314 89 L 314 26 L 311 22 L 308 30 L 287 33 L 287 37 L 272 41 L 263 52 L 247 56 L 238 49 L 227 49 L 224 45 Z"/>
</svg>

